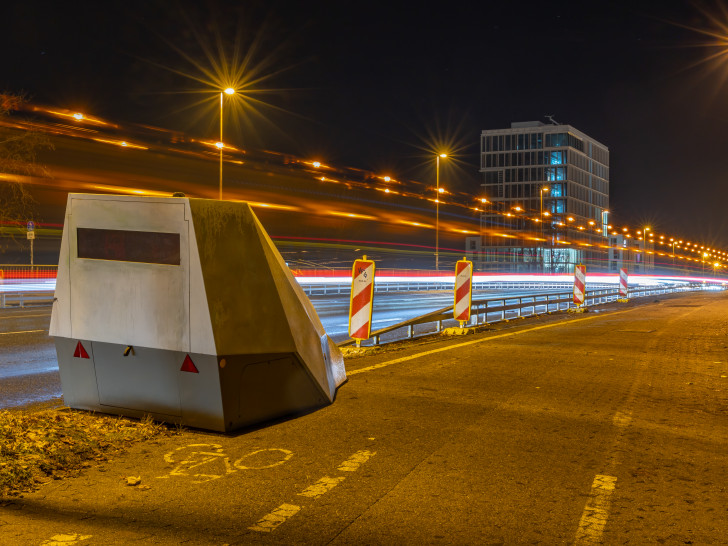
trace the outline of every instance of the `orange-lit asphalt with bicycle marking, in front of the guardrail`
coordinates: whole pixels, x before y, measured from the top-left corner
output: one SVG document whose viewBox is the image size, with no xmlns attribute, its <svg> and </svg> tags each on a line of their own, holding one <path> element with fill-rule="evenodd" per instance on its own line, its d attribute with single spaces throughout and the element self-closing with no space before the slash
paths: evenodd
<svg viewBox="0 0 728 546">
<path fill-rule="evenodd" d="M 348 359 L 332 405 L 137 445 L 0 542 L 725 544 L 728 297 L 656 300 Z"/>
</svg>

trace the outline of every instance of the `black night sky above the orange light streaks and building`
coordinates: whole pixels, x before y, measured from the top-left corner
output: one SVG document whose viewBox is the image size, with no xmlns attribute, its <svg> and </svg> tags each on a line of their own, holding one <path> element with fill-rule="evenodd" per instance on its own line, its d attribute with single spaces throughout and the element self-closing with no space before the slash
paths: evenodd
<svg viewBox="0 0 728 546">
<path fill-rule="evenodd" d="M 215 138 L 193 78 L 220 43 L 252 51 L 235 145 L 420 181 L 445 146 L 443 185 L 474 195 L 480 131 L 553 115 L 609 147 L 618 225 L 726 248 L 723 34 L 717 2 L 28 0 L 2 7 L 0 90 Z"/>
</svg>

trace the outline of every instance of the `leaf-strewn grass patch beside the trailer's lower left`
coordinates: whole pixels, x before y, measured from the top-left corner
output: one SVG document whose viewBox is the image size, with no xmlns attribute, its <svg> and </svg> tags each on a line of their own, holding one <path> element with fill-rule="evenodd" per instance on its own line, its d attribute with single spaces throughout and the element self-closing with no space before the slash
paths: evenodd
<svg viewBox="0 0 728 546">
<path fill-rule="evenodd" d="M 172 433 L 151 418 L 74 410 L 0 411 L 0 497 L 77 475 L 136 442 Z"/>
</svg>

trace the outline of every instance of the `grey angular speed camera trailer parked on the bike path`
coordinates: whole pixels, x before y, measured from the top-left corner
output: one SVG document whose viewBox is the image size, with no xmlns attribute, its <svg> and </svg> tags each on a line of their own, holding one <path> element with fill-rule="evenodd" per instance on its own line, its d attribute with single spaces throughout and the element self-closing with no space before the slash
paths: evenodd
<svg viewBox="0 0 728 546">
<path fill-rule="evenodd" d="M 215 431 L 329 404 L 346 380 L 246 203 L 69 194 L 50 335 L 67 406 Z"/>
</svg>

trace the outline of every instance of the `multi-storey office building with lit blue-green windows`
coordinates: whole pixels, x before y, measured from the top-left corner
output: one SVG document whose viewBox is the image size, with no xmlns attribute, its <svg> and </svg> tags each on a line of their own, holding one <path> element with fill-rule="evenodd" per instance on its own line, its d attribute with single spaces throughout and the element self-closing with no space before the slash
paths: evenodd
<svg viewBox="0 0 728 546">
<path fill-rule="evenodd" d="M 480 138 L 484 271 L 608 269 L 609 149 L 570 125 L 512 123 Z M 472 242 L 470 243 L 472 245 Z"/>
</svg>

